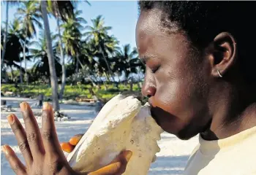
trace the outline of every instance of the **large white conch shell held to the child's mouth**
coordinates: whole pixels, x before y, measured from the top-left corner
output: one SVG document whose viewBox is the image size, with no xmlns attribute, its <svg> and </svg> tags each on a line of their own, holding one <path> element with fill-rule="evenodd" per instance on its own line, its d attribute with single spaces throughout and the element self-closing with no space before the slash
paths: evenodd
<svg viewBox="0 0 256 175">
<path fill-rule="evenodd" d="M 75 171 L 96 171 L 122 150 L 131 150 L 124 174 L 146 175 L 159 152 L 162 128 L 151 117 L 148 104 L 122 95 L 108 101 L 67 160 Z"/>
</svg>

